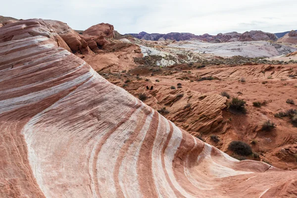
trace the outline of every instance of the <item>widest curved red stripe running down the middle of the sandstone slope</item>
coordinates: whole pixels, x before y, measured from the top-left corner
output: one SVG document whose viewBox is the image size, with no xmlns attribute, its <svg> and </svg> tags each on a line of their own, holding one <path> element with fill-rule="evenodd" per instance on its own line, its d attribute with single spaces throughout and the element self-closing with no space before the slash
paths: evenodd
<svg viewBox="0 0 297 198">
<path fill-rule="evenodd" d="M 144 198 L 158 197 L 153 180 L 151 157 L 152 147 L 157 134 L 158 124 L 159 114 L 156 111 L 154 111 L 148 128 L 148 133 L 146 134 L 144 142 L 140 148 L 137 162 L 139 186 Z"/>
</svg>

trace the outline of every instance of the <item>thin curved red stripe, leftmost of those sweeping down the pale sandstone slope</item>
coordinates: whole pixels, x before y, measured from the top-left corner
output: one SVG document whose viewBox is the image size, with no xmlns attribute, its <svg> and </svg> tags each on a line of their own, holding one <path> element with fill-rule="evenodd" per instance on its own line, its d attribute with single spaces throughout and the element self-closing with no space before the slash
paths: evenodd
<svg viewBox="0 0 297 198">
<path fill-rule="evenodd" d="M 126 116 L 116 125 L 114 126 L 110 131 L 108 131 L 107 133 L 104 134 L 104 136 L 101 138 L 101 141 L 99 142 L 99 144 L 96 147 L 95 150 L 95 155 L 94 155 L 94 160 L 93 160 L 93 164 L 92 164 L 92 168 L 93 168 L 93 180 L 95 183 L 95 191 L 97 196 L 100 198 L 100 192 L 99 192 L 99 183 L 98 183 L 98 178 L 97 178 L 97 170 L 96 170 L 96 165 L 97 165 L 97 161 L 98 161 L 98 154 L 100 149 L 102 148 L 103 144 L 106 142 L 106 140 L 108 139 L 108 137 L 117 129 L 119 128 L 122 124 L 124 124 L 125 122 L 128 121 L 128 119 L 131 117 L 131 115 L 137 110 L 138 107 L 140 107 L 141 104 L 137 104 L 136 106 L 132 107 L 130 112 L 126 114 Z"/>
</svg>

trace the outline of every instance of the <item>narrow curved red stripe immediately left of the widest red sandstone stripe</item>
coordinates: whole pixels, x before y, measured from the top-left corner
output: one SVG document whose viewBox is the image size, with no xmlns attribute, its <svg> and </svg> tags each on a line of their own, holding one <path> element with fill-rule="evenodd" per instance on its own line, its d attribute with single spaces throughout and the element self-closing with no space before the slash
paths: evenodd
<svg viewBox="0 0 297 198">
<path fill-rule="evenodd" d="M 125 154 L 127 153 L 127 150 L 131 146 L 131 144 L 135 141 L 136 137 L 139 135 L 140 131 L 142 130 L 148 115 L 151 113 L 147 107 L 143 107 L 141 109 L 141 112 L 144 112 L 142 114 L 142 117 L 139 118 L 139 122 L 137 123 L 135 131 L 132 133 L 131 136 L 129 136 L 129 139 L 125 143 L 125 145 L 121 148 L 118 157 L 116 159 L 115 167 L 114 167 L 114 172 L 113 172 L 113 180 L 114 180 L 114 186 L 117 192 L 117 197 L 122 198 L 124 197 L 123 192 L 121 191 L 121 187 L 119 185 L 119 169 L 122 164 L 123 158 L 125 157 Z"/>
</svg>

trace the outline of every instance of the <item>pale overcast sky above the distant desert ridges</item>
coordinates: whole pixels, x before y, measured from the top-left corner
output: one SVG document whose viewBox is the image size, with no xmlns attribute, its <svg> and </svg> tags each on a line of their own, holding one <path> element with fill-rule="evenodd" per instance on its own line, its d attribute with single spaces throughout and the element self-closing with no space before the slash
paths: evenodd
<svg viewBox="0 0 297 198">
<path fill-rule="evenodd" d="M 110 23 L 121 34 L 297 29 L 297 0 L 6 0 L 0 10 L 18 19 L 63 21 L 76 30 Z"/>
</svg>

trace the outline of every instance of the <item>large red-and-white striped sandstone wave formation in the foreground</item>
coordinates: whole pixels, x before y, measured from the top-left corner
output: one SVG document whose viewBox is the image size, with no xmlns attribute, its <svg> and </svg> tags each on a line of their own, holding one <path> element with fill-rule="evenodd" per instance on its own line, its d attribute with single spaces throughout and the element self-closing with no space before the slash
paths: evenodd
<svg viewBox="0 0 297 198">
<path fill-rule="evenodd" d="M 55 29 L 0 27 L 1 198 L 297 196 L 296 171 L 194 138 L 107 82 Z"/>
</svg>

